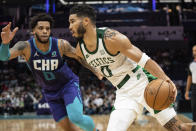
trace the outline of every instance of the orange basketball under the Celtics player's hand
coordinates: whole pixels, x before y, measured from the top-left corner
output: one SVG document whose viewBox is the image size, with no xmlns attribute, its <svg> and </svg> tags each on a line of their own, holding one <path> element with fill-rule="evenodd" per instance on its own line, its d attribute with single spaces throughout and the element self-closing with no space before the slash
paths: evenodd
<svg viewBox="0 0 196 131">
<path fill-rule="evenodd" d="M 173 88 L 172 84 L 162 79 L 151 81 L 144 91 L 146 103 L 155 110 L 169 107 L 174 100 Z"/>
</svg>

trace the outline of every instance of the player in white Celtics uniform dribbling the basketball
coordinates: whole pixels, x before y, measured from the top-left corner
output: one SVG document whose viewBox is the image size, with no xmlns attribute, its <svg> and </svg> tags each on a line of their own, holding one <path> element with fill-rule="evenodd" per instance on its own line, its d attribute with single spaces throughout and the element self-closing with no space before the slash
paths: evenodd
<svg viewBox="0 0 196 131">
<path fill-rule="evenodd" d="M 109 28 L 96 28 L 95 11 L 87 5 L 74 6 L 69 22 L 72 36 L 78 39 L 77 55 L 117 88 L 115 110 L 110 115 L 107 131 L 126 131 L 144 107 L 169 131 L 196 131 L 195 126 L 181 122 L 172 107 L 155 111 L 146 104 L 143 94 L 150 81 L 159 78 L 173 82 L 125 35 Z M 173 101 L 175 97 L 176 88 Z"/>
</svg>

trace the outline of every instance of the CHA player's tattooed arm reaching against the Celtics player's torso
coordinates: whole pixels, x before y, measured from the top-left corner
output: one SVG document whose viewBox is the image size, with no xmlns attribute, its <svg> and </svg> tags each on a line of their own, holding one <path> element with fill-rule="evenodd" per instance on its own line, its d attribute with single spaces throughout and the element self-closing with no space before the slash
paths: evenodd
<svg viewBox="0 0 196 131">
<path fill-rule="evenodd" d="M 103 76 L 95 68 L 91 67 L 82 57 L 76 55 L 76 49 L 72 47 L 68 41 L 60 40 L 60 50 L 63 55 L 76 59 L 84 67 L 91 70 L 100 80 L 103 78 Z"/>
</svg>

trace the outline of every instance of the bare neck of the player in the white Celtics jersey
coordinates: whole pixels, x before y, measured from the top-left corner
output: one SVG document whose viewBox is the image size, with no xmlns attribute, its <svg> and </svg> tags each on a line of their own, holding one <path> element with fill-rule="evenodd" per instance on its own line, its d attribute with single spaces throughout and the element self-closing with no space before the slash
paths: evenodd
<svg viewBox="0 0 196 131">
<path fill-rule="evenodd" d="M 96 27 L 91 26 L 86 29 L 86 33 L 84 34 L 83 40 L 86 45 L 94 45 L 97 42 L 97 32 Z"/>
</svg>

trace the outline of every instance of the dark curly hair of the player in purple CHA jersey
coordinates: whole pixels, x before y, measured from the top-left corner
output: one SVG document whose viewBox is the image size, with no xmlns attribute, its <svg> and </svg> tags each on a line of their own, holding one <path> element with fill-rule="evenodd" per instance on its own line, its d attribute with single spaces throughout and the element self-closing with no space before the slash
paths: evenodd
<svg viewBox="0 0 196 131">
<path fill-rule="evenodd" d="M 30 28 L 34 29 L 35 26 L 37 25 L 38 21 L 48 21 L 50 23 L 51 28 L 53 27 L 53 24 L 54 24 L 54 19 L 52 18 L 52 16 L 50 16 L 46 13 L 40 13 L 40 14 L 37 14 L 31 18 Z"/>
</svg>

